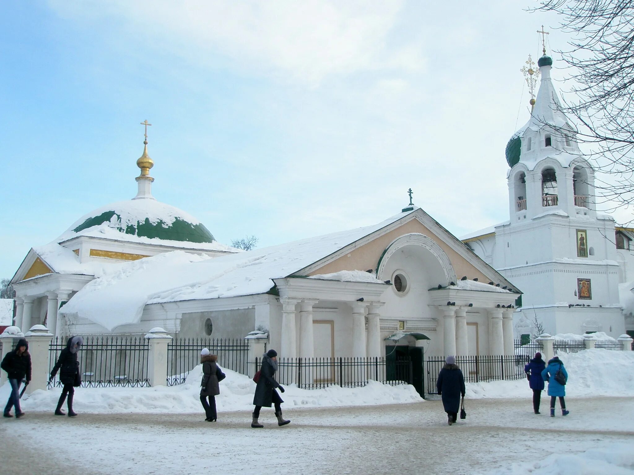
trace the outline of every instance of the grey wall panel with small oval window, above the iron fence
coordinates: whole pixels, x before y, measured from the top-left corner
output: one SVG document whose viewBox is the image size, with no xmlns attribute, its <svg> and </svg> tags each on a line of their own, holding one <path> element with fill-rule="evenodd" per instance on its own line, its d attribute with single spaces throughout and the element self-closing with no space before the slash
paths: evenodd
<svg viewBox="0 0 634 475">
<path fill-rule="evenodd" d="M 205 321 L 211 319 L 213 331 L 205 333 Z M 179 338 L 244 338 L 254 330 L 256 311 L 254 308 L 236 310 L 211 310 L 191 312 L 181 317 Z"/>
</svg>

